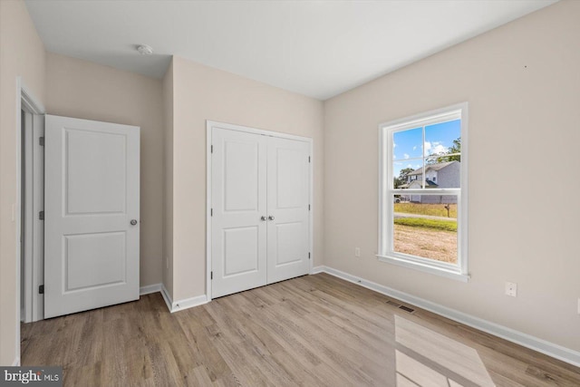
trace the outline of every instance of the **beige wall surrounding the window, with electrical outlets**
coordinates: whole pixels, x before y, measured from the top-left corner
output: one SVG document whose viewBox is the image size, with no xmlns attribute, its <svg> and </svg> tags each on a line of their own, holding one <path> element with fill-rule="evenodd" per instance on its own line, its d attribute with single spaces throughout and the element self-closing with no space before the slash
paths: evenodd
<svg viewBox="0 0 580 387">
<path fill-rule="evenodd" d="M 580 350 L 578 20 L 557 3 L 325 102 L 324 264 Z M 464 101 L 468 284 L 374 256 L 378 124 Z"/>
</svg>

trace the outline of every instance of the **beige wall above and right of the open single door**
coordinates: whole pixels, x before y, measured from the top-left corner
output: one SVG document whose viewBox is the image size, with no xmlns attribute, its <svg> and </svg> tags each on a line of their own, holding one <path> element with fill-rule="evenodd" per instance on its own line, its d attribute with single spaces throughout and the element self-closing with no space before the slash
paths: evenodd
<svg viewBox="0 0 580 387">
<path fill-rule="evenodd" d="M 46 111 L 140 126 L 140 285 L 160 284 L 163 94 L 158 79 L 47 53 Z"/>
</svg>

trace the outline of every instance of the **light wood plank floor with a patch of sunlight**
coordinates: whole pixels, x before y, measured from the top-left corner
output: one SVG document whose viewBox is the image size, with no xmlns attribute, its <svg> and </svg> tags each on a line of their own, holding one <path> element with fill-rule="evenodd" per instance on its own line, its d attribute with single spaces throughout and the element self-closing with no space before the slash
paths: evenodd
<svg viewBox="0 0 580 387">
<path fill-rule="evenodd" d="M 580 386 L 580 369 L 325 274 L 169 314 L 161 295 L 22 326 L 67 386 Z M 392 300 L 391 300 L 392 301 Z"/>
</svg>

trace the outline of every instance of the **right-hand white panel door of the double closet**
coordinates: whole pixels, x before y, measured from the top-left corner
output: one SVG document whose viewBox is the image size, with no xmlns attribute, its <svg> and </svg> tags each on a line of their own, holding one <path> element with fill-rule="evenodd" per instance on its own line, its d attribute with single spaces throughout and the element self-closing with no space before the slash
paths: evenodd
<svg viewBox="0 0 580 387">
<path fill-rule="evenodd" d="M 267 283 L 309 271 L 310 144 L 268 138 Z"/>
</svg>

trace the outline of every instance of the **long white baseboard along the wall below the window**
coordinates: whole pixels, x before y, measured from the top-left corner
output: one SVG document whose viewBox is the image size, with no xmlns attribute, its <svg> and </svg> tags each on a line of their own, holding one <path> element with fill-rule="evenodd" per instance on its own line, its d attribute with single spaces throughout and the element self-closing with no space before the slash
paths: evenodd
<svg viewBox="0 0 580 387">
<path fill-rule="evenodd" d="M 344 273 L 343 271 L 336 270 L 332 267 L 316 266 L 312 271 L 313 274 L 327 273 L 332 276 L 337 276 L 343 280 L 352 282 L 353 284 L 361 285 L 368 289 L 374 290 L 375 292 L 382 293 L 383 295 L 389 295 L 405 303 L 428 310 L 434 314 L 440 314 L 443 317 L 447 317 L 453 321 L 457 321 L 458 323 L 466 324 L 472 328 L 478 329 L 479 331 L 493 334 L 509 342 L 517 343 L 536 352 L 544 353 L 565 363 L 570 363 L 576 367 L 580 367 L 580 352 L 565 348 L 556 343 L 550 343 L 532 335 L 518 332 L 514 329 L 508 328 L 507 326 L 491 323 L 474 315 L 459 312 L 458 310 L 430 302 L 415 295 L 410 295 L 408 293 L 392 289 L 388 286 L 379 285 L 372 281 L 367 281 L 361 277 Z"/>
</svg>

